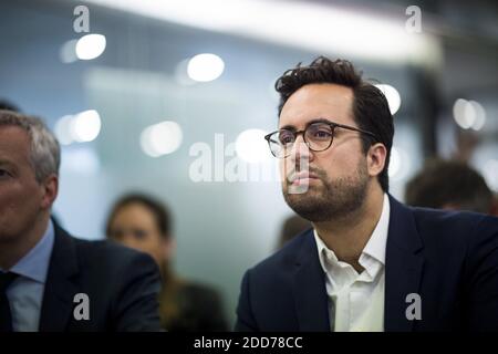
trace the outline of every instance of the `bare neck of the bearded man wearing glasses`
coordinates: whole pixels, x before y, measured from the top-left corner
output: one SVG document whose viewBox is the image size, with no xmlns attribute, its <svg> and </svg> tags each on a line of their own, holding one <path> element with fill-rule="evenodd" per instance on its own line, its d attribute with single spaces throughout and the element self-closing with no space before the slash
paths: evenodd
<svg viewBox="0 0 498 354">
<path fill-rule="evenodd" d="M 362 207 L 355 212 L 330 221 L 313 222 L 325 246 L 343 262 L 362 271 L 360 256 L 370 240 L 384 202 L 384 192 L 378 186 L 371 186 Z"/>
</svg>

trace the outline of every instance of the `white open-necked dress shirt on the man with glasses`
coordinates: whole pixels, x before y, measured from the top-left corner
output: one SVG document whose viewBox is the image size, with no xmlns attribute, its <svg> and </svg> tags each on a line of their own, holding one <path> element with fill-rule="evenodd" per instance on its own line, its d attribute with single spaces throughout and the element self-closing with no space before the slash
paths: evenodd
<svg viewBox="0 0 498 354">
<path fill-rule="evenodd" d="M 384 331 L 384 268 L 390 199 L 384 194 L 381 218 L 360 256 L 359 274 L 349 263 L 339 261 L 314 230 L 320 263 L 325 272 L 331 331 Z"/>
</svg>

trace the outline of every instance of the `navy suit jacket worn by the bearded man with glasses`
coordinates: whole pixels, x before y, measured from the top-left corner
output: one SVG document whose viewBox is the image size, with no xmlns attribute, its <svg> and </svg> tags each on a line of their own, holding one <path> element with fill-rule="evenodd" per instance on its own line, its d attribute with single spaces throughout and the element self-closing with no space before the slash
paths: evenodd
<svg viewBox="0 0 498 354">
<path fill-rule="evenodd" d="M 390 197 L 385 331 L 498 331 L 498 218 L 409 208 Z M 409 293 L 422 320 L 408 320 Z M 312 230 L 248 270 L 237 331 L 329 331 Z"/>
</svg>

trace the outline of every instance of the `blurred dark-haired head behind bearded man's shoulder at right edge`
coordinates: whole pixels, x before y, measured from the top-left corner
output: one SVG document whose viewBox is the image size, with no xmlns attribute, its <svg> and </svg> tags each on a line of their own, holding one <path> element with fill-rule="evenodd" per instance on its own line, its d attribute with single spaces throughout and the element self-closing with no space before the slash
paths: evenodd
<svg viewBox="0 0 498 354">
<path fill-rule="evenodd" d="M 432 159 L 406 185 L 414 207 L 492 214 L 495 200 L 486 180 L 466 163 Z"/>
</svg>

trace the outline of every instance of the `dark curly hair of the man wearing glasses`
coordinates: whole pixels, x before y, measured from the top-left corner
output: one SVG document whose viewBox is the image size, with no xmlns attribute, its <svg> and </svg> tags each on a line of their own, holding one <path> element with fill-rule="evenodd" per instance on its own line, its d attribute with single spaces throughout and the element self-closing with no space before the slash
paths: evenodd
<svg viewBox="0 0 498 354">
<path fill-rule="evenodd" d="M 388 191 L 387 170 L 394 136 L 393 116 L 385 95 L 372 83 L 364 81 L 362 73 L 357 72 L 351 62 L 341 59 L 332 61 L 325 56 L 319 56 L 308 66 L 299 63 L 294 69 L 286 71 L 274 84 L 280 94 L 279 116 L 287 100 L 295 91 L 308 84 L 320 83 L 342 85 L 353 91 L 354 121 L 360 128 L 372 132 L 377 137 L 374 139 L 363 135 L 363 152 L 366 154 L 374 143 L 381 143 L 387 149 L 385 166 L 378 175 L 378 183 L 384 191 Z"/>
</svg>

